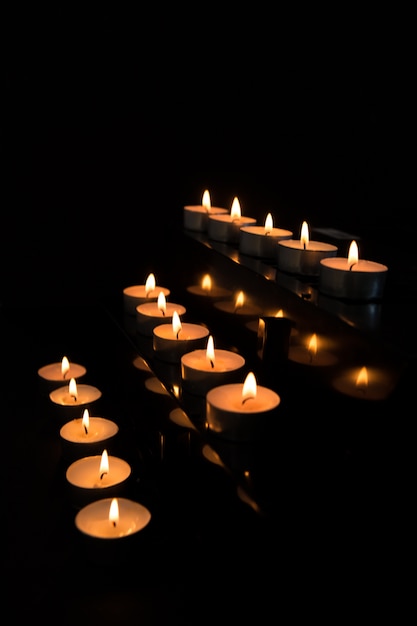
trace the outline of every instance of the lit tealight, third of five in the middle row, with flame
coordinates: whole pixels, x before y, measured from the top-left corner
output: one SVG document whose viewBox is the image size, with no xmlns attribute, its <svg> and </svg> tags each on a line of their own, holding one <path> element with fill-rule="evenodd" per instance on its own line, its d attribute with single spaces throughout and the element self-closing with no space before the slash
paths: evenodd
<svg viewBox="0 0 417 626">
<path fill-rule="evenodd" d="M 153 329 L 153 349 L 162 361 L 180 364 L 183 354 L 204 347 L 208 335 L 205 326 L 183 324 L 174 311 L 172 324 L 159 324 Z"/>
</svg>

